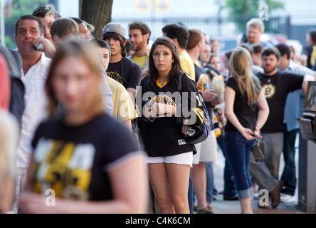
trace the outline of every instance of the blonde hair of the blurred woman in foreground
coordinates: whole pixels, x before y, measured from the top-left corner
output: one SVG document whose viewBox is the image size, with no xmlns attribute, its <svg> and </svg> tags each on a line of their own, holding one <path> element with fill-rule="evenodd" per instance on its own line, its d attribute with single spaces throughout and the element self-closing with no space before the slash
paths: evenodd
<svg viewBox="0 0 316 228">
<path fill-rule="evenodd" d="M 65 58 L 74 56 L 75 58 L 82 58 L 83 61 L 92 71 L 92 74 L 96 76 L 97 80 L 102 81 L 102 71 L 100 66 L 100 56 L 98 56 L 98 49 L 95 43 L 85 41 L 81 38 L 71 39 L 63 43 L 56 55 L 54 56 L 50 69 L 48 71 L 48 77 L 46 79 L 45 89 L 48 97 L 48 113 L 53 115 L 58 111 L 59 101 L 56 99 L 55 91 L 53 90 L 53 77 L 56 72 L 58 64 Z M 90 115 L 97 115 L 105 111 L 105 102 L 103 99 L 103 83 L 98 83 L 95 88 L 95 99 L 92 107 L 89 107 L 87 112 Z"/>
</svg>

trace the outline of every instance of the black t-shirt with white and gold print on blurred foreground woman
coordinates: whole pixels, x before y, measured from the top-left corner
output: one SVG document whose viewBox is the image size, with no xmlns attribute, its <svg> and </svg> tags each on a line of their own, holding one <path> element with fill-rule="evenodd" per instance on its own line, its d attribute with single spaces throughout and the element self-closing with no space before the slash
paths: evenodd
<svg viewBox="0 0 316 228">
<path fill-rule="evenodd" d="M 93 201 L 113 198 L 107 172 L 139 152 L 130 131 L 107 114 L 75 127 L 65 125 L 61 115 L 43 122 L 32 146 L 35 192 L 53 189 L 56 197 Z"/>
</svg>

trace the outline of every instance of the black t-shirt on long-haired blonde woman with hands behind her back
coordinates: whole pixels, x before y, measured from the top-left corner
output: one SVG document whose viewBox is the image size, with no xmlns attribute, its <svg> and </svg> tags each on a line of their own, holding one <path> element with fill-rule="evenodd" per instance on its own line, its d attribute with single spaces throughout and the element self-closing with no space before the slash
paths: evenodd
<svg viewBox="0 0 316 228">
<path fill-rule="evenodd" d="M 241 90 L 239 90 L 238 83 L 234 77 L 228 78 L 226 87 L 230 87 L 236 92 L 235 101 L 233 103 L 233 113 L 235 113 L 239 123 L 241 123 L 243 128 L 254 130 L 256 128 L 258 115 L 257 103 L 248 105 L 247 93 L 245 91 L 243 94 L 241 94 Z M 225 131 L 232 132 L 238 130 L 229 120 L 227 120 Z"/>
</svg>

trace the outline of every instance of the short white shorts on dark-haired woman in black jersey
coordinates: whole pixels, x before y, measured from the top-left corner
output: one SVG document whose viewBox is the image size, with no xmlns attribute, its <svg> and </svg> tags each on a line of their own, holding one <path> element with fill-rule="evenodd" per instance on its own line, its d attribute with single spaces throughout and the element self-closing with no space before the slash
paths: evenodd
<svg viewBox="0 0 316 228">
<path fill-rule="evenodd" d="M 147 157 L 146 162 L 147 164 L 174 163 L 177 165 L 189 165 L 192 167 L 193 152 L 184 152 L 179 155 L 167 157 Z"/>
</svg>

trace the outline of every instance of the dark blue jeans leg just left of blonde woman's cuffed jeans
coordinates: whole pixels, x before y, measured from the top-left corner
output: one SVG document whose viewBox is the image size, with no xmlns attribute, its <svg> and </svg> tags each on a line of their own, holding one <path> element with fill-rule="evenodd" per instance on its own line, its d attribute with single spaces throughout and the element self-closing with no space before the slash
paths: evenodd
<svg viewBox="0 0 316 228">
<path fill-rule="evenodd" d="M 236 189 L 235 186 L 233 185 L 233 173 L 231 172 L 231 167 L 229 167 L 228 162 L 227 162 L 227 158 L 225 155 L 225 145 L 224 145 L 224 141 L 223 138 L 218 137 L 217 138 L 217 144 L 219 145 L 219 147 L 221 147 L 221 151 L 223 152 L 223 156 L 225 157 L 225 167 L 224 167 L 224 173 L 223 173 L 223 177 L 224 177 L 224 188 L 223 188 L 223 196 L 224 197 L 236 197 Z"/>
</svg>

